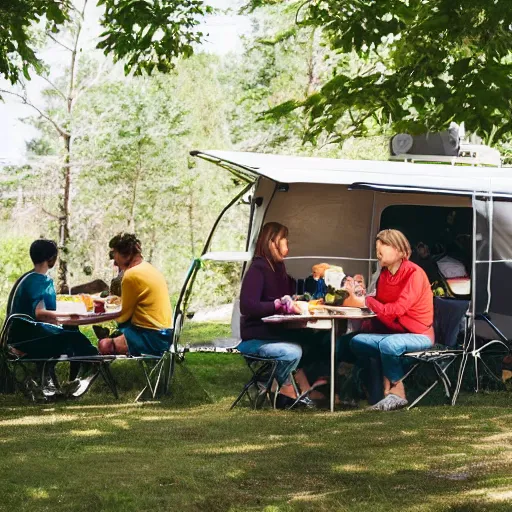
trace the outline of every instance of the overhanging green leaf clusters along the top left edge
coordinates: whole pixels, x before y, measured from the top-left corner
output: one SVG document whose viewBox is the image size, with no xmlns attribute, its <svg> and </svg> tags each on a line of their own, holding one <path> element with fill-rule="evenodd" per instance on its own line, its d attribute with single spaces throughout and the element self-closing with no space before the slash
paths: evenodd
<svg viewBox="0 0 512 512">
<path fill-rule="evenodd" d="M 84 0 L 85 2 L 87 0 Z M 40 21 L 56 34 L 69 19 L 72 0 L 1 0 L 0 75 L 11 83 L 20 71 L 40 70 L 31 29 Z M 202 0 L 98 0 L 104 27 L 98 48 L 114 60 L 126 59 L 125 73 L 150 74 L 172 69 L 176 57 L 190 56 L 203 34 L 201 17 L 212 12 Z"/>
</svg>

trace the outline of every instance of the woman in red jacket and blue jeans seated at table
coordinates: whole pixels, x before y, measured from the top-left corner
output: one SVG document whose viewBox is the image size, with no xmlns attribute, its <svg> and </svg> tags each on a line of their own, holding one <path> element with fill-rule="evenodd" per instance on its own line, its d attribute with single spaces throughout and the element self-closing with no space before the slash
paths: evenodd
<svg viewBox="0 0 512 512">
<path fill-rule="evenodd" d="M 365 332 L 351 338 L 350 348 L 359 359 L 380 358 L 384 399 L 372 409 L 388 411 L 407 405 L 402 354 L 434 343 L 434 300 L 427 275 L 409 261 L 411 246 L 402 232 L 381 231 L 376 253 L 382 271 L 375 296 L 352 296 L 350 302 L 370 308 L 377 318 L 363 327 Z"/>
</svg>

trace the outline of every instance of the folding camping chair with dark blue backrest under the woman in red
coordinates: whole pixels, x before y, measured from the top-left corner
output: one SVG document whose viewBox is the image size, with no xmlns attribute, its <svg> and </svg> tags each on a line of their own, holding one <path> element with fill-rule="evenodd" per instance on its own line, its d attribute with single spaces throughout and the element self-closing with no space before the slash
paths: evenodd
<svg viewBox="0 0 512 512">
<path fill-rule="evenodd" d="M 436 344 L 427 350 L 406 352 L 402 357 L 413 361 L 413 365 L 402 380 L 414 378 L 417 370 L 423 365 L 432 367 L 436 379 L 409 406 L 411 409 L 427 396 L 438 383 L 444 387 L 446 397 L 452 397 L 452 383 L 448 370 L 453 363 L 463 356 L 464 350 L 458 344 L 461 327 L 464 329 L 465 340 L 468 333 L 468 300 L 445 299 L 434 297 L 434 331 Z M 465 341 L 466 342 L 466 341 Z"/>
</svg>

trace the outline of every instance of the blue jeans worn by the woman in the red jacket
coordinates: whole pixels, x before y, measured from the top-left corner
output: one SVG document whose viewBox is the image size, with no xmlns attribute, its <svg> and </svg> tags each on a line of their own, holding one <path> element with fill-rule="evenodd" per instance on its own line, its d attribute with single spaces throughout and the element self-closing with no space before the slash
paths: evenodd
<svg viewBox="0 0 512 512">
<path fill-rule="evenodd" d="M 405 352 L 425 350 L 432 341 L 423 334 L 356 334 L 350 348 L 358 359 L 380 358 L 382 373 L 391 382 L 398 382 L 407 373 L 407 362 L 400 356 Z"/>
</svg>

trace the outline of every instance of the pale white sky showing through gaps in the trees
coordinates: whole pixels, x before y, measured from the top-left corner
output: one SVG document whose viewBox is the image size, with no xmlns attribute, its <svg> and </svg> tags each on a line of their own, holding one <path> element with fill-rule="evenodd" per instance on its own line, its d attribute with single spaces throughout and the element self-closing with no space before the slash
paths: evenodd
<svg viewBox="0 0 512 512">
<path fill-rule="evenodd" d="M 218 13 L 208 16 L 201 25 L 200 30 L 208 34 L 202 50 L 226 54 L 228 52 L 240 52 L 242 50 L 241 36 L 249 32 L 250 22 L 246 16 L 233 13 L 234 0 L 213 0 L 208 2 L 217 9 L 232 9 L 231 13 Z M 89 3 L 86 19 L 91 20 L 85 28 L 86 44 L 92 45 L 97 34 L 98 25 L 95 22 L 99 17 L 99 10 L 94 3 Z M 58 66 L 66 58 L 66 50 L 55 48 L 43 55 L 45 61 L 51 66 Z M 28 95 L 37 106 L 41 105 L 40 91 L 47 84 L 44 80 L 33 76 L 27 84 Z M 11 89 L 6 81 L 0 79 L 0 89 Z M 9 95 L 4 96 L 4 103 L 0 102 L 0 164 L 21 164 L 25 159 L 25 143 L 34 136 L 37 131 L 24 124 L 20 118 L 35 114 L 35 111 Z"/>
</svg>

